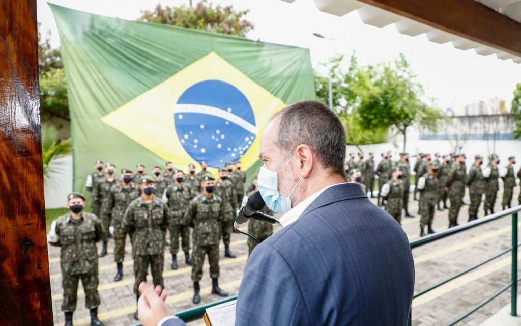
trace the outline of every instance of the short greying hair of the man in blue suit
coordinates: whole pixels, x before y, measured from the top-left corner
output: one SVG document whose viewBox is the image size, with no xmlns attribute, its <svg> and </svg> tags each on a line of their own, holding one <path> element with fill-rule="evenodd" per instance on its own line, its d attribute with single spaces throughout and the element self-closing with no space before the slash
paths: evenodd
<svg viewBox="0 0 521 326">
<path fill-rule="evenodd" d="M 332 173 L 345 175 L 345 130 L 340 119 L 323 102 L 295 102 L 271 117 L 278 119 L 276 144 L 293 152 L 299 144 L 307 144 L 318 161 Z"/>
</svg>

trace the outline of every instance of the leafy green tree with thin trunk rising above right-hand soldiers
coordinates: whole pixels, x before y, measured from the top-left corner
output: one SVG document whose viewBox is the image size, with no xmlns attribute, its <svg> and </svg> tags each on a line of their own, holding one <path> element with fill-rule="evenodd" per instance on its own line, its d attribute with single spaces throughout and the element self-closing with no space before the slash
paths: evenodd
<svg viewBox="0 0 521 326">
<path fill-rule="evenodd" d="M 403 54 L 394 65 L 382 63 L 358 71 L 355 91 L 361 98 L 358 122 L 366 129 L 394 128 L 403 135 L 405 151 L 407 128 L 436 130 L 445 116 L 439 108 L 429 107 L 425 94 Z"/>
</svg>

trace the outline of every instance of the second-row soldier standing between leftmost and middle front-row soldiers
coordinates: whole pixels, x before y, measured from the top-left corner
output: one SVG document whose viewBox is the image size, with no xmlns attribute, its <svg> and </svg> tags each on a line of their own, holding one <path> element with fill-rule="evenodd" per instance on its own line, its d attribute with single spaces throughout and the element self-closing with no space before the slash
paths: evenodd
<svg viewBox="0 0 521 326">
<path fill-rule="evenodd" d="M 127 232 L 122 220 L 129 204 L 140 196 L 139 186 L 133 182 L 132 171 L 121 169 L 121 182 L 110 188 L 110 200 L 108 209 L 112 211 L 112 225 L 114 226 L 114 261 L 116 262 L 116 276 L 114 281 L 121 281 L 123 277 L 123 260 L 125 259 L 125 242 Z M 134 243 L 134 235 L 131 233 L 130 243 Z M 132 249 L 132 253 L 134 250 Z M 133 255 L 132 255 L 133 256 Z"/>
</svg>

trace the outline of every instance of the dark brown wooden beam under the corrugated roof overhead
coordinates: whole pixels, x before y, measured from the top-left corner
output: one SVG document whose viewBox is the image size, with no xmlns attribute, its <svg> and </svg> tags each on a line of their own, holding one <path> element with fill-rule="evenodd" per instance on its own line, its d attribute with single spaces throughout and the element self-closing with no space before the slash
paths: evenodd
<svg viewBox="0 0 521 326">
<path fill-rule="evenodd" d="M 359 0 L 521 56 L 521 24 L 475 0 Z"/>
</svg>

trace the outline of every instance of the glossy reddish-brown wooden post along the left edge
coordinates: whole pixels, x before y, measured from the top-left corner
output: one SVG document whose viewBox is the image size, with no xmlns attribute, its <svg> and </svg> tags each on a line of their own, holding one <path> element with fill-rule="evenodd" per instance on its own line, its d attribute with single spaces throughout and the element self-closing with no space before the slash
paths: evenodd
<svg viewBox="0 0 521 326">
<path fill-rule="evenodd" d="M 0 324 L 52 325 L 36 1 L 1 1 L 0 17 Z"/>
</svg>

